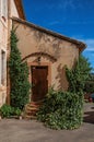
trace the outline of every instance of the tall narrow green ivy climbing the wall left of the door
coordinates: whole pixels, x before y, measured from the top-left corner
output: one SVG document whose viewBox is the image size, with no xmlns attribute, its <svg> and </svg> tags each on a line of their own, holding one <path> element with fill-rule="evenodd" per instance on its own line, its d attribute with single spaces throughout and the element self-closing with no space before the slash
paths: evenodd
<svg viewBox="0 0 94 142">
<path fill-rule="evenodd" d="M 9 61 L 11 80 L 11 106 L 23 109 L 28 102 L 30 83 L 28 68 L 22 62 L 21 52 L 17 49 L 17 37 L 15 29 L 11 31 L 11 55 Z"/>
</svg>

